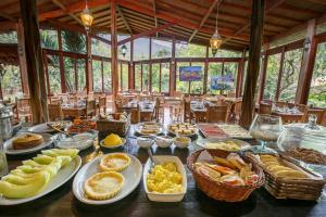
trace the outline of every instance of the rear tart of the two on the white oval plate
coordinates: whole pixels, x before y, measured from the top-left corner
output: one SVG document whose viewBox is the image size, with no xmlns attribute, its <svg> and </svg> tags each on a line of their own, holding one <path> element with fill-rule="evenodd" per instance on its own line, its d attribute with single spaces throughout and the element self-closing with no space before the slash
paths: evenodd
<svg viewBox="0 0 326 217">
<path fill-rule="evenodd" d="M 99 168 L 101 171 L 122 171 L 129 166 L 130 162 L 131 159 L 127 154 L 106 154 L 101 159 Z"/>
</svg>

